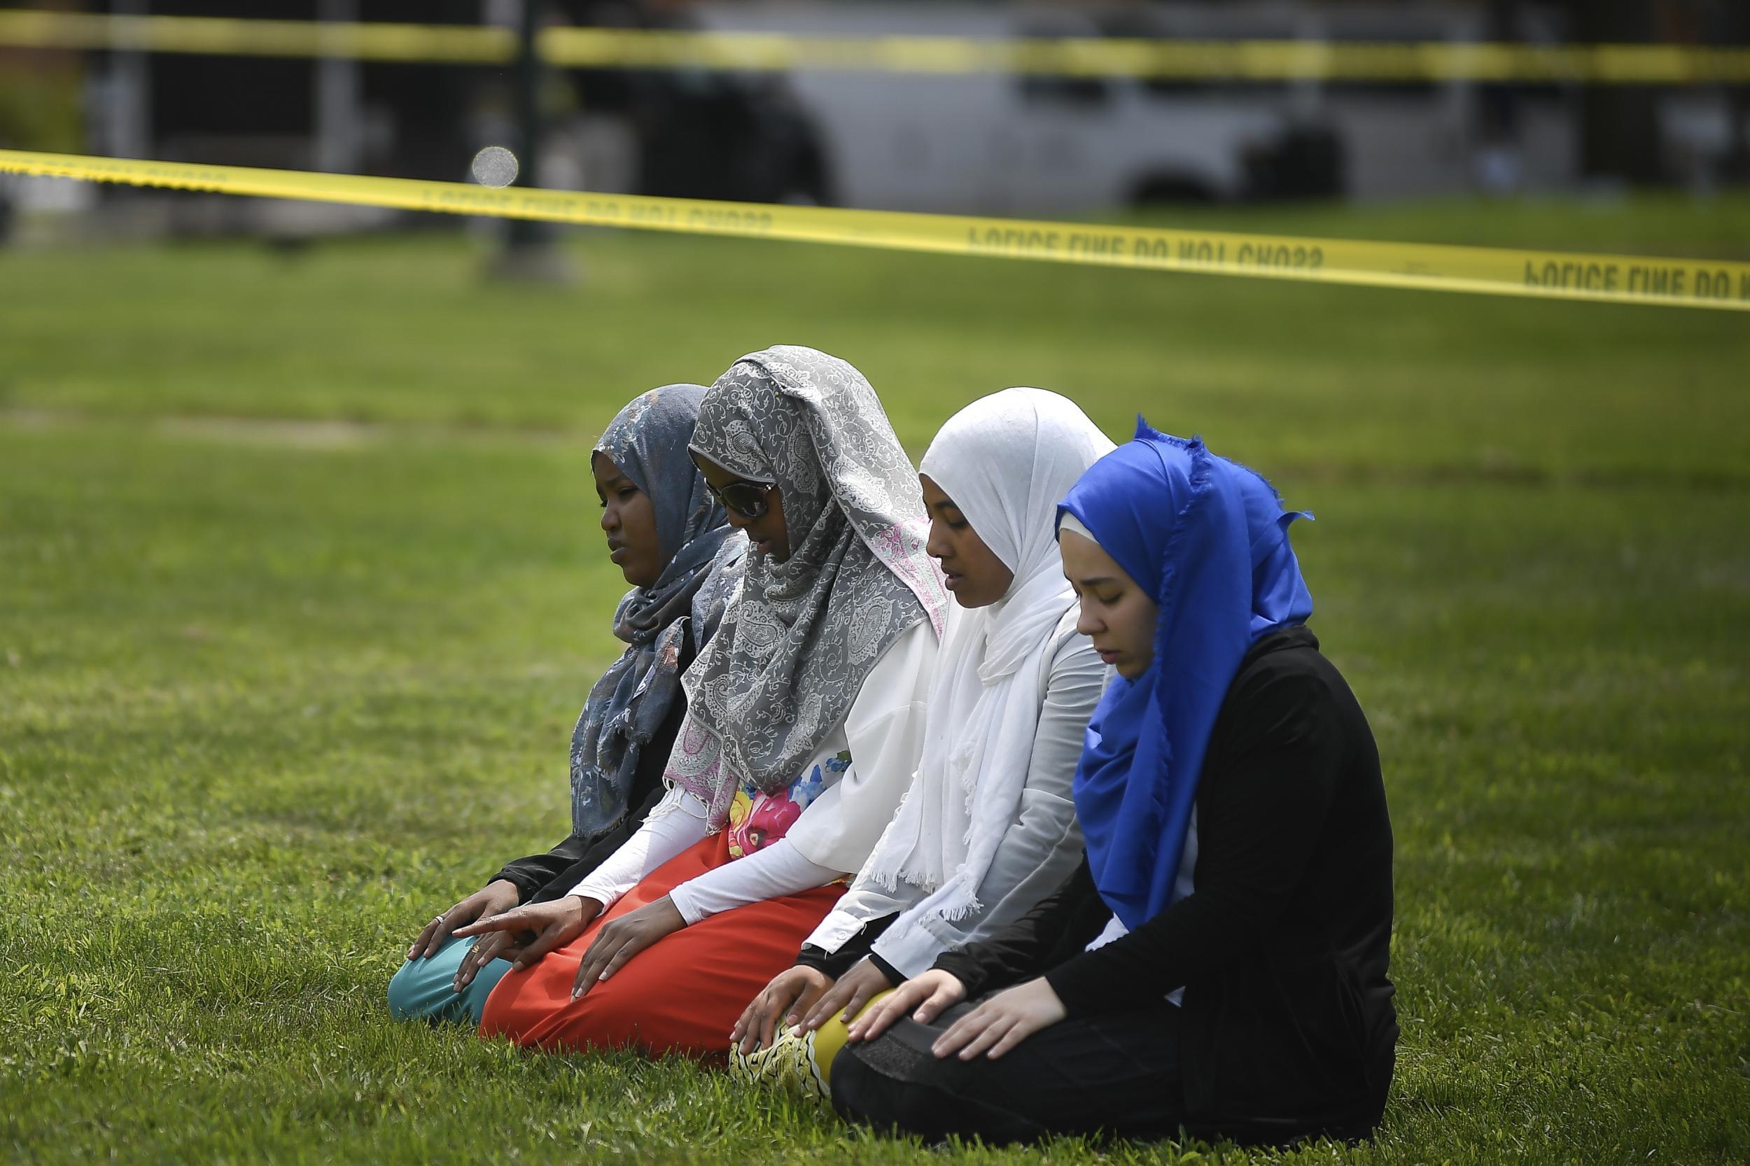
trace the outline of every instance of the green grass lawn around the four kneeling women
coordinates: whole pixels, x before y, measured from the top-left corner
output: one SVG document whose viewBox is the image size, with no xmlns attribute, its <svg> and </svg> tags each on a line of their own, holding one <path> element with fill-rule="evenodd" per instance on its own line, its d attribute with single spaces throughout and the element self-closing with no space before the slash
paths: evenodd
<svg viewBox="0 0 1750 1166">
<path fill-rule="evenodd" d="M 1750 201 L 1199 226 L 1743 257 Z M 908 1162 L 688 1064 L 392 1022 L 432 912 L 556 840 L 623 585 L 586 452 L 768 343 L 920 452 L 1069 392 L 1318 511 L 1379 735 L 1404 1040 L 1370 1147 L 1750 1155 L 1750 322 L 588 233 L 0 252 L 0 1150 L 12 1161 Z M 1092 1147 L 943 1161 L 1274 1161 Z"/>
</svg>

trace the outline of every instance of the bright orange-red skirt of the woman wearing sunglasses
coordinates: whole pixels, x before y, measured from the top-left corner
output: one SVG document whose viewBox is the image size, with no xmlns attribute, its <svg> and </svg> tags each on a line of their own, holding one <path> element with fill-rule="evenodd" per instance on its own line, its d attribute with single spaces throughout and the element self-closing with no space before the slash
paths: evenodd
<svg viewBox="0 0 1750 1166">
<path fill-rule="evenodd" d="M 639 1049 L 726 1061 L 735 1021 L 774 975 L 796 963 L 802 942 L 844 895 L 842 882 L 700 919 L 635 954 L 583 1000 L 570 998 L 583 952 L 606 921 L 726 861 L 726 830 L 670 858 L 570 944 L 500 979 L 486 996 L 480 1033 L 537 1049 Z"/>
</svg>

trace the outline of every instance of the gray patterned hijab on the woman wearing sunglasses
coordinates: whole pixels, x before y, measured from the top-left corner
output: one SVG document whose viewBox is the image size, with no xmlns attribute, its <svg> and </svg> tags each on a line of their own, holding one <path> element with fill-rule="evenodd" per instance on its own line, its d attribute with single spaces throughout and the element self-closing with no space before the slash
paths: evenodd
<svg viewBox="0 0 1750 1166">
<path fill-rule="evenodd" d="M 924 553 L 917 471 L 844 361 L 789 345 L 742 357 L 698 406 L 693 448 L 775 483 L 791 544 L 784 562 L 749 553 L 682 681 L 667 779 L 719 830 L 742 783 L 775 793 L 802 774 L 889 644 L 924 620 L 942 634 L 947 592 Z"/>
</svg>

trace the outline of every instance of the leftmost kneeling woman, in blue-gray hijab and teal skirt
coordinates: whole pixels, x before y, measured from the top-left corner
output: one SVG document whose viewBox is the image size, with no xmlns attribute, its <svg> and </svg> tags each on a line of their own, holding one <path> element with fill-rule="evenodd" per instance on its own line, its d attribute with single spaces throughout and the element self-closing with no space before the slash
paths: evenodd
<svg viewBox="0 0 1750 1166">
<path fill-rule="evenodd" d="M 570 735 L 570 835 L 506 863 L 425 924 L 388 982 L 397 1017 L 478 1024 L 518 947 L 502 933 L 476 942 L 452 931 L 567 895 L 663 793 L 686 714 L 681 672 L 716 632 L 747 546 L 686 453 L 704 397 L 704 385 L 651 389 L 620 410 L 590 453 L 607 555 L 632 590 L 614 609 L 626 648 L 590 688 Z"/>
</svg>

